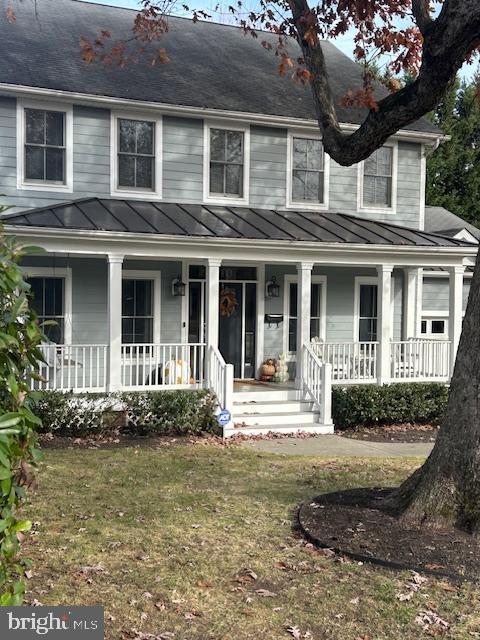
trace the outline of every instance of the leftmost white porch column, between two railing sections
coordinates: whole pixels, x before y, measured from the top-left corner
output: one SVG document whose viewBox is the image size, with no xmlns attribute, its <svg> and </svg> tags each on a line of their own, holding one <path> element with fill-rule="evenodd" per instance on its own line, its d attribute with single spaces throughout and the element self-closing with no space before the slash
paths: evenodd
<svg viewBox="0 0 480 640">
<path fill-rule="evenodd" d="M 123 256 L 108 254 L 108 390 L 122 386 Z"/>
</svg>

